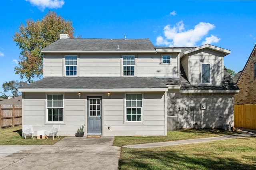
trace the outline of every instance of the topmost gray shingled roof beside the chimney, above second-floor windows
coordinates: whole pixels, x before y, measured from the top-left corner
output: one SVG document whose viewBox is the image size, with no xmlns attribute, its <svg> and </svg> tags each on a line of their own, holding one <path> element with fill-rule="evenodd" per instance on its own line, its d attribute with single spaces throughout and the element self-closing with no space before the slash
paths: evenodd
<svg viewBox="0 0 256 170">
<path fill-rule="evenodd" d="M 42 50 L 154 50 L 154 45 L 149 39 L 59 39 Z"/>
</svg>

